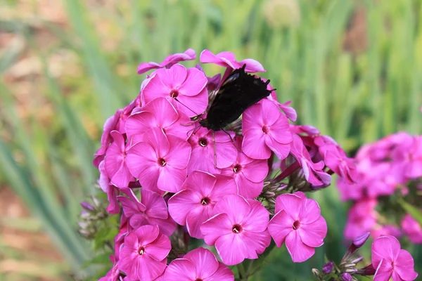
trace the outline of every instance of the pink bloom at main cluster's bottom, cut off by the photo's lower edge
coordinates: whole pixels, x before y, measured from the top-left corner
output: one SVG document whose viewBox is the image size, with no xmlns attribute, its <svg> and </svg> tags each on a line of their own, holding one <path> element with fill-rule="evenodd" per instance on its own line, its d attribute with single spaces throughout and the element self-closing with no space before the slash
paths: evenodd
<svg viewBox="0 0 422 281">
<path fill-rule="evenodd" d="M 183 259 L 175 259 L 165 270 L 166 281 L 218 280 L 233 281 L 234 275 L 220 263 L 208 249 L 198 248 L 188 252 Z"/>
</svg>

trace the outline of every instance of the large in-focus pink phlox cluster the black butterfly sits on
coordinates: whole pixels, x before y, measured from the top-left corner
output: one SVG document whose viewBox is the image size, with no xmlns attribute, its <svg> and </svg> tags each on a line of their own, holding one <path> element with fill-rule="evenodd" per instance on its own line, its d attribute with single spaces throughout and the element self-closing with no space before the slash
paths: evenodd
<svg viewBox="0 0 422 281">
<path fill-rule="evenodd" d="M 270 96 L 221 131 L 200 126 L 234 70 L 265 70 L 207 50 L 200 63 L 224 67 L 222 76 L 179 64 L 195 58 L 189 49 L 141 64 L 139 74 L 154 71 L 104 124 L 94 165 L 107 211 L 121 218 L 113 268 L 102 280 L 234 280 L 227 266 L 258 259 L 271 237 L 294 262 L 306 261 L 327 226 L 304 192 L 327 187 L 333 173 L 356 179 L 353 160 L 316 128 L 292 124 L 295 110 L 269 84 Z M 208 249 L 194 249 L 190 237 Z"/>
</svg>

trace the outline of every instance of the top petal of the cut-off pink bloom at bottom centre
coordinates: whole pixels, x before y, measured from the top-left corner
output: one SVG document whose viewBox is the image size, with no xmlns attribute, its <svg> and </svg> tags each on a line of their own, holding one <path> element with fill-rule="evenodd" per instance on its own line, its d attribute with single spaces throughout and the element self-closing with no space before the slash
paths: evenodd
<svg viewBox="0 0 422 281">
<path fill-rule="evenodd" d="M 219 268 L 219 262 L 208 249 L 198 248 L 189 251 L 184 259 L 192 261 L 196 268 L 196 277 L 208 280 Z"/>
</svg>

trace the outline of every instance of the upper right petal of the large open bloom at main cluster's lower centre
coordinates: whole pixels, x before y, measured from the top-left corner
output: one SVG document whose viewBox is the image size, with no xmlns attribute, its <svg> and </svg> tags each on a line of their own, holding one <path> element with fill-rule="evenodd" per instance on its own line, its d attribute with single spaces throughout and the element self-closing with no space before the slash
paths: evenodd
<svg viewBox="0 0 422 281">
<path fill-rule="evenodd" d="M 269 221 L 269 211 L 256 200 L 248 200 L 250 211 L 243 218 L 242 228 L 251 233 L 262 233 L 267 229 Z"/>
</svg>

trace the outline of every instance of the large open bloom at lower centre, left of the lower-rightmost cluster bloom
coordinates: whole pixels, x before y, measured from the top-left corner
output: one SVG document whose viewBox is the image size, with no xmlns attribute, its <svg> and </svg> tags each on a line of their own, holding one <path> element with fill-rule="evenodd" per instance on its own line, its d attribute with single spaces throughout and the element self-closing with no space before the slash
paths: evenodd
<svg viewBox="0 0 422 281">
<path fill-rule="evenodd" d="M 222 261 L 229 266 L 244 259 L 258 259 L 269 246 L 269 212 L 255 200 L 227 195 L 214 207 L 215 216 L 200 227 L 208 245 L 215 245 Z"/>
</svg>

